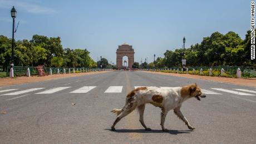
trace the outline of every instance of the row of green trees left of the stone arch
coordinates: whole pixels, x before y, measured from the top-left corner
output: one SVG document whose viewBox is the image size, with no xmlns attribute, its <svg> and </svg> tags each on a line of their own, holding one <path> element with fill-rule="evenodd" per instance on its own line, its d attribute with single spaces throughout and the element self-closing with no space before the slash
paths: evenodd
<svg viewBox="0 0 256 144">
<path fill-rule="evenodd" d="M 60 37 L 34 35 L 31 41 L 24 39 L 14 43 L 14 66 L 46 67 L 100 67 L 109 66 L 107 59 L 95 62 L 85 49 L 62 48 Z M 0 67 L 11 63 L 12 39 L 0 36 Z"/>
</svg>

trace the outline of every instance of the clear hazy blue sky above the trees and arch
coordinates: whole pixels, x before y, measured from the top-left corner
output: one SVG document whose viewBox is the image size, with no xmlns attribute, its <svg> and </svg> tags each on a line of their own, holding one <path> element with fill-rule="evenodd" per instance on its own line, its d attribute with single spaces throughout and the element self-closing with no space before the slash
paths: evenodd
<svg viewBox="0 0 256 144">
<path fill-rule="evenodd" d="M 116 63 L 118 45 L 135 49 L 135 61 L 166 49 L 200 43 L 218 31 L 234 31 L 244 38 L 250 29 L 250 1 L 61 1 L 0 0 L 0 35 L 11 37 L 11 8 L 20 21 L 16 39 L 33 34 L 60 36 L 63 48 L 87 48 L 95 61 L 100 56 Z"/>
</svg>

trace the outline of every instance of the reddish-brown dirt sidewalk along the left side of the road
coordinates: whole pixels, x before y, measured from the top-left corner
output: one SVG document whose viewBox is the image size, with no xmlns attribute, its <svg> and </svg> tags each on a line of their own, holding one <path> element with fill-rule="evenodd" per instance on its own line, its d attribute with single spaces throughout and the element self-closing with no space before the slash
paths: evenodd
<svg viewBox="0 0 256 144">
<path fill-rule="evenodd" d="M 87 73 L 67 73 L 67 74 L 60 74 L 60 75 L 48 75 L 48 76 L 31 76 L 31 77 L 16 77 L 16 78 L 0 78 L 0 87 L 2 86 L 10 86 L 10 85 L 19 85 L 23 83 L 32 83 L 32 82 L 40 82 L 40 81 L 48 81 L 48 80 L 57 80 L 60 78 L 66 77 L 77 77 L 83 75 L 93 75 L 97 73 L 105 73 L 110 71 L 101 71 L 101 72 L 87 72 Z"/>
</svg>

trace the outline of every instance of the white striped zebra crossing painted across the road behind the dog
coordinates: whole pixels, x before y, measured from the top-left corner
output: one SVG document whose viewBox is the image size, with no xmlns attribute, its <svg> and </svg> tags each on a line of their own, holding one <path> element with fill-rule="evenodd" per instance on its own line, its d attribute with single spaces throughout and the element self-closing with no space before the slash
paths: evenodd
<svg viewBox="0 0 256 144">
<path fill-rule="evenodd" d="M 104 91 L 104 93 L 122 93 L 124 86 L 109 86 L 107 89 Z M 134 88 L 137 87 L 142 87 L 142 86 L 134 86 Z M 47 95 L 47 94 L 53 94 L 53 93 L 58 93 L 63 90 L 67 90 L 65 92 L 68 93 L 88 93 L 93 89 L 97 89 L 100 87 L 97 86 L 83 86 L 80 88 L 77 88 L 76 90 L 71 90 L 72 87 L 54 87 L 54 88 L 29 88 L 27 90 L 18 90 L 17 88 L 12 88 L 12 89 L 6 89 L 6 90 L 0 90 L 0 96 L 16 96 L 16 95 L 21 95 L 24 94 L 23 96 L 18 96 L 14 98 L 10 98 L 9 100 L 14 100 L 16 98 L 24 97 L 27 96 L 25 94 L 31 93 L 35 95 Z M 168 88 L 168 87 L 163 87 L 163 88 Z M 231 89 L 231 88 L 230 88 Z M 42 90 L 42 91 L 40 91 Z M 206 89 L 201 89 L 206 95 L 223 95 L 223 92 L 226 93 L 231 93 L 234 95 L 238 96 L 256 96 L 256 91 L 253 90 L 246 90 L 246 89 L 239 89 L 239 88 L 233 88 L 231 90 L 224 89 L 224 88 L 209 88 L 208 90 Z M 2 95 L 1 95 L 2 94 Z"/>
</svg>

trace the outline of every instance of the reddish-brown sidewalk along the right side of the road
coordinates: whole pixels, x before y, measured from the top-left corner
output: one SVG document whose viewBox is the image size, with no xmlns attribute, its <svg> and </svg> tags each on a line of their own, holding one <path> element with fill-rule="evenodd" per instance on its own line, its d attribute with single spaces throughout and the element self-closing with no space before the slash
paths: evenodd
<svg viewBox="0 0 256 144">
<path fill-rule="evenodd" d="M 256 87 L 256 79 L 210 77 L 210 76 L 198 76 L 198 75 L 189 75 L 189 74 L 186 75 L 186 74 L 165 73 L 165 72 L 150 72 L 150 71 L 144 71 L 144 72 L 156 73 L 156 74 L 159 74 L 159 75 L 169 75 L 169 76 L 176 76 L 176 77 L 187 77 L 187 78 L 193 78 L 193 79 L 201 79 L 201 80 L 209 80 L 209 81 L 216 81 L 216 82 L 232 83 L 232 84 L 241 85 L 241 86 Z"/>
</svg>

